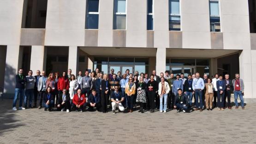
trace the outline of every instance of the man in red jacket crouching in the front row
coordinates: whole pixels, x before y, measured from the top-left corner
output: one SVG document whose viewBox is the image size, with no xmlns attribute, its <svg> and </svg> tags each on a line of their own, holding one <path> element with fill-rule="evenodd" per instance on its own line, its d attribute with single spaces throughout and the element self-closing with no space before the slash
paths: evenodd
<svg viewBox="0 0 256 144">
<path fill-rule="evenodd" d="M 86 98 L 85 95 L 82 94 L 81 89 L 77 90 L 77 93 L 74 95 L 72 102 L 72 107 L 75 108 L 76 111 L 83 112 L 86 107 Z"/>
</svg>

